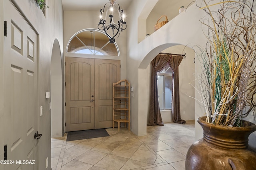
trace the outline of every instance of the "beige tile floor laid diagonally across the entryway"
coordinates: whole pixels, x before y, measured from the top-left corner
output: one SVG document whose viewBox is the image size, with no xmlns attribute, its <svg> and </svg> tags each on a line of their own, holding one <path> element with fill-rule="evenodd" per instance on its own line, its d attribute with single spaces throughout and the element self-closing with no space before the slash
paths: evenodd
<svg viewBox="0 0 256 170">
<path fill-rule="evenodd" d="M 126 128 L 106 131 L 109 137 L 52 138 L 52 170 L 184 170 L 186 152 L 195 141 L 195 121 L 147 126 L 142 137 Z"/>
</svg>

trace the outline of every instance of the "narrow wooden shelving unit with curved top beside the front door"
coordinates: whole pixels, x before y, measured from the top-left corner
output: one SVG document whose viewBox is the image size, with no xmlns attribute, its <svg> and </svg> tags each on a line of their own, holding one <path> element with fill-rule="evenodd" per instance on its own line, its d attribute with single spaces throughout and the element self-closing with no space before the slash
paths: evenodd
<svg viewBox="0 0 256 170">
<path fill-rule="evenodd" d="M 128 123 L 128 131 L 130 131 L 130 83 L 127 80 L 120 80 L 113 83 L 113 129 L 115 122 L 118 123 L 118 131 L 120 131 L 120 123 Z"/>
</svg>

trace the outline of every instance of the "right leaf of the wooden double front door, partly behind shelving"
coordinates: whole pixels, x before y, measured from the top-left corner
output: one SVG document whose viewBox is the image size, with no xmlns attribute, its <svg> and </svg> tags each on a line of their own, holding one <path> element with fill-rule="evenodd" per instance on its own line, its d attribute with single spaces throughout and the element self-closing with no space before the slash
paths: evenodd
<svg viewBox="0 0 256 170">
<path fill-rule="evenodd" d="M 113 83 L 120 80 L 120 60 L 95 59 L 95 129 L 112 127 Z"/>
</svg>

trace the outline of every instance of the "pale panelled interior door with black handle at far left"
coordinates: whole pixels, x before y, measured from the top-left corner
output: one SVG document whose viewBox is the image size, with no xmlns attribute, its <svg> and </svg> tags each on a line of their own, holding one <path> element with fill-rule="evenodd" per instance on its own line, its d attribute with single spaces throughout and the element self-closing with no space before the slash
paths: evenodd
<svg viewBox="0 0 256 170">
<path fill-rule="evenodd" d="M 4 170 L 35 170 L 39 119 L 37 109 L 37 47 L 35 31 L 9 1 L 4 1 L 7 36 L 4 39 L 4 143 L 7 160 Z M 8 10 L 7 10 L 8 9 Z M 29 160 L 34 164 L 23 164 Z M 17 162 L 16 162 L 17 161 Z"/>
</svg>

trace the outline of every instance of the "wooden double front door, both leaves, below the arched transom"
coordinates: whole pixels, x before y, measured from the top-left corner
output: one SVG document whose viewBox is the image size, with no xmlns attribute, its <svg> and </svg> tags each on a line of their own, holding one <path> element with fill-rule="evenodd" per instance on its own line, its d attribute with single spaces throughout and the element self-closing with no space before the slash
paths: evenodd
<svg viewBox="0 0 256 170">
<path fill-rule="evenodd" d="M 66 57 L 66 131 L 112 127 L 120 61 Z"/>
</svg>

